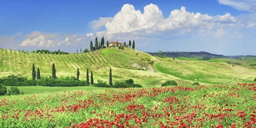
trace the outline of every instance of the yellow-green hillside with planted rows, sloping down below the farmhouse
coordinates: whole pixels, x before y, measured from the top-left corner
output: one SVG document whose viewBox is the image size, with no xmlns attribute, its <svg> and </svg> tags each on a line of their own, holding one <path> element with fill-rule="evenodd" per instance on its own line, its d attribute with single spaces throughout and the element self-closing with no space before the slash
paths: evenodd
<svg viewBox="0 0 256 128">
<path fill-rule="evenodd" d="M 101 54 L 101 52 L 103 53 Z M 118 53 L 118 55 L 113 59 L 113 57 L 105 56 L 106 54 L 104 54 L 104 52 L 109 52 L 111 54 Z M 138 52 L 139 55 L 136 55 L 136 52 Z M 152 70 L 138 70 L 138 65 L 141 66 L 141 68 L 142 66 L 150 65 L 147 61 L 141 61 L 142 57 L 154 58 L 149 54 L 140 51 L 131 49 L 119 50 L 117 47 L 90 51 L 89 53 L 70 53 L 68 55 L 39 54 L 31 52 L 22 53 L 19 51 L 1 50 L 0 77 L 14 74 L 31 78 L 31 68 L 33 63 L 36 68 L 39 67 L 42 77 L 50 77 L 51 66 L 55 63 L 57 77 L 76 76 L 77 68 L 79 68 L 80 78 L 86 79 L 86 68 L 89 67 L 89 70 L 93 70 L 95 82 L 97 82 L 98 79 L 109 82 L 109 67 L 111 67 L 113 82 L 125 81 L 125 79 L 132 78 L 136 83 L 141 83 L 145 86 L 159 86 L 167 79 L 175 79 L 181 84 L 191 83 L 191 81 L 186 81 Z M 133 63 L 130 63 L 130 58 L 133 58 Z M 122 66 L 123 63 L 126 63 L 127 67 Z M 137 67 L 133 67 L 134 63 L 137 63 Z M 151 69 L 153 69 L 153 67 L 151 67 Z"/>
</svg>

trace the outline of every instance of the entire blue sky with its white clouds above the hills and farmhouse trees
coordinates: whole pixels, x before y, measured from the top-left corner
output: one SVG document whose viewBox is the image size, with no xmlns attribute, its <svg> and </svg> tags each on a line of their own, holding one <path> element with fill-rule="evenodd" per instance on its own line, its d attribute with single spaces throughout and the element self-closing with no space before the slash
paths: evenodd
<svg viewBox="0 0 256 128">
<path fill-rule="evenodd" d="M 102 36 L 141 51 L 256 55 L 256 1 L 0 1 L 0 47 L 75 52 Z"/>
</svg>

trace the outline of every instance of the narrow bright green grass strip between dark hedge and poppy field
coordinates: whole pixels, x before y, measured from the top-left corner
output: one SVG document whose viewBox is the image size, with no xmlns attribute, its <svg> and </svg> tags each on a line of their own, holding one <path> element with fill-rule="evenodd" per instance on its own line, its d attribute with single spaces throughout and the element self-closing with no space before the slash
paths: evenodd
<svg viewBox="0 0 256 128">
<path fill-rule="evenodd" d="M 6 86 L 7 90 L 11 86 Z M 93 87 L 93 86 L 78 86 L 78 87 L 47 87 L 47 86 L 18 86 L 19 91 L 24 92 L 25 94 L 41 94 L 41 93 L 55 93 L 59 91 L 94 91 L 94 90 L 107 90 L 113 88 L 104 88 L 104 87 Z"/>
</svg>

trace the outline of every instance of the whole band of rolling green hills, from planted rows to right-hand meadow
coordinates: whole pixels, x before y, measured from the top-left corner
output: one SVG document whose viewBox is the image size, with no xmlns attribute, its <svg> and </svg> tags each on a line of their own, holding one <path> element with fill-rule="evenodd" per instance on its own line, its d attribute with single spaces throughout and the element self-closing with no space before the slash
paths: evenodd
<svg viewBox="0 0 256 128">
<path fill-rule="evenodd" d="M 156 58 L 133 49 L 111 47 L 89 53 L 40 54 L 0 50 L 0 77 L 10 74 L 31 78 L 32 64 L 39 67 L 42 77 L 51 76 L 55 63 L 57 77 L 75 76 L 79 68 L 81 79 L 86 78 L 86 68 L 93 70 L 94 81 L 109 81 L 109 67 L 113 82 L 132 78 L 144 86 L 160 86 L 169 79 L 180 85 L 201 83 L 252 82 L 256 70 L 242 65 L 230 65 L 226 59 L 206 61 L 188 58 Z M 250 60 L 251 61 L 251 60 Z M 254 63 L 254 62 L 251 62 Z M 255 62 L 256 63 L 256 62 Z"/>
</svg>

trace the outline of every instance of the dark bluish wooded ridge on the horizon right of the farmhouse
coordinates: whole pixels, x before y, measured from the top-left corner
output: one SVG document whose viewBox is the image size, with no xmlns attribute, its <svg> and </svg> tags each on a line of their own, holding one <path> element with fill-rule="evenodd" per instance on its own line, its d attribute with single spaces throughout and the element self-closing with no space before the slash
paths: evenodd
<svg viewBox="0 0 256 128">
<path fill-rule="evenodd" d="M 158 56 L 159 53 L 154 52 L 154 53 L 149 53 L 154 56 Z M 225 55 L 218 55 L 218 54 L 211 54 L 206 51 L 199 51 L 199 52 L 186 52 L 186 51 L 167 51 L 167 52 L 162 52 L 162 55 L 165 57 L 187 57 L 187 58 L 198 58 L 198 59 L 210 59 L 210 58 L 229 58 L 228 56 Z"/>
</svg>

